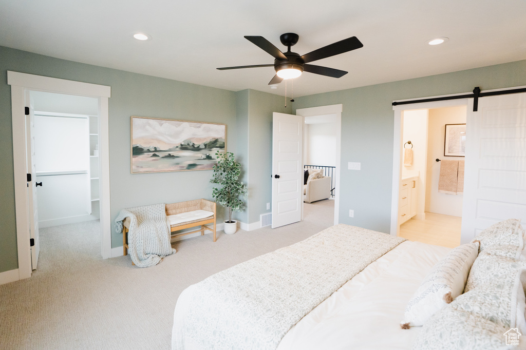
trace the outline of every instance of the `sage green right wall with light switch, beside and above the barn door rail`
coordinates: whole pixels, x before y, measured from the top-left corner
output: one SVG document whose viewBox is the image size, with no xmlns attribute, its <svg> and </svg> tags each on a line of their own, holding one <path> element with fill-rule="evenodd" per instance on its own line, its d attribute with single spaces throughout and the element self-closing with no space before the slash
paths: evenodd
<svg viewBox="0 0 526 350">
<path fill-rule="evenodd" d="M 339 220 L 389 232 L 393 100 L 526 85 L 526 60 L 296 98 L 294 109 L 342 104 Z M 347 170 L 361 162 L 361 170 Z M 349 209 L 355 217 L 349 218 Z"/>
</svg>

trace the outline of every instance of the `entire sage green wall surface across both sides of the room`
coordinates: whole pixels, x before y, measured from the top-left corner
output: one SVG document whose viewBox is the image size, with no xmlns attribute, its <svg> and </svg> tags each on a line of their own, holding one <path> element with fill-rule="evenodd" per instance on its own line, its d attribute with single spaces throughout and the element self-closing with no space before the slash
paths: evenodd
<svg viewBox="0 0 526 350">
<path fill-rule="evenodd" d="M 109 99 L 112 218 L 122 208 L 159 202 L 211 199 L 211 171 L 130 174 L 130 116 L 227 124 L 227 150 L 244 167 L 250 197 L 243 222 L 259 221 L 271 201 L 272 112 L 291 113 L 284 97 L 232 92 L 126 71 L 75 63 L 0 47 L 0 272 L 18 266 L 13 179 L 11 87 L 7 70 L 112 87 Z M 526 60 L 394 83 L 296 98 L 298 108 L 343 104 L 340 222 L 388 232 L 391 213 L 393 111 L 398 99 L 526 85 Z M 346 170 L 361 162 L 360 171 Z M 355 218 L 349 218 L 349 209 Z M 224 210 L 219 208 L 221 218 Z M 122 235 L 112 232 L 112 246 Z"/>
</svg>

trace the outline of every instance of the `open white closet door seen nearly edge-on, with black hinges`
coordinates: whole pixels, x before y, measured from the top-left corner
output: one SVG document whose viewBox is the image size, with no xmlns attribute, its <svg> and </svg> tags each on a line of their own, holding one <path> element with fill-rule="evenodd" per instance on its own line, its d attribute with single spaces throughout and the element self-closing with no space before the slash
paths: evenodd
<svg viewBox="0 0 526 350">
<path fill-rule="evenodd" d="M 31 240 L 31 265 L 36 270 L 38 253 L 40 252 L 40 241 L 38 238 L 38 205 L 36 194 L 36 171 L 35 171 L 35 109 L 31 92 L 26 90 L 26 106 L 29 106 L 29 115 L 26 115 L 26 152 L 27 173 L 31 174 L 31 181 L 27 182 L 27 203 L 29 204 L 29 239 Z M 42 186 L 42 182 L 39 183 Z"/>
</svg>

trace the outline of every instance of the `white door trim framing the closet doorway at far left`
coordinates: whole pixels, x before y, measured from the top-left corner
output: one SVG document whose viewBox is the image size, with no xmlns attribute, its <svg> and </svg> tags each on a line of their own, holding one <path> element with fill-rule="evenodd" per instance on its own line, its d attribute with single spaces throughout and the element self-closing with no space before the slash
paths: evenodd
<svg viewBox="0 0 526 350">
<path fill-rule="evenodd" d="M 109 199 L 109 110 L 108 98 L 111 87 L 82 83 L 65 79 L 7 71 L 7 84 L 11 85 L 11 108 L 13 122 L 13 173 L 15 180 L 16 239 L 18 249 L 19 280 L 31 276 L 31 249 L 26 198 L 26 148 L 24 94 L 26 90 L 56 92 L 59 94 L 89 96 L 99 99 L 100 115 L 100 171 L 102 192 L 100 193 L 100 227 L 102 231 L 102 256 L 111 258 L 111 213 Z"/>
</svg>

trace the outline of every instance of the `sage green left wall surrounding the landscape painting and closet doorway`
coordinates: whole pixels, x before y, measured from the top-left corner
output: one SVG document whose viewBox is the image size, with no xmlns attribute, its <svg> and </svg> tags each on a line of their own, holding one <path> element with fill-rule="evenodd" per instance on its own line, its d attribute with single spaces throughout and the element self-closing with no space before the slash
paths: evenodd
<svg viewBox="0 0 526 350">
<path fill-rule="evenodd" d="M 112 218 L 120 209 L 196 198 L 211 199 L 212 172 L 130 174 L 130 116 L 225 123 L 227 150 L 236 152 L 236 92 L 182 83 L 0 47 L 0 272 L 17 269 L 11 87 L 7 70 L 112 87 L 109 99 Z M 218 210 L 219 218 L 224 214 Z M 112 230 L 114 225 L 112 224 Z M 112 232 L 112 247 L 122 234 Z"/>
</svg>

